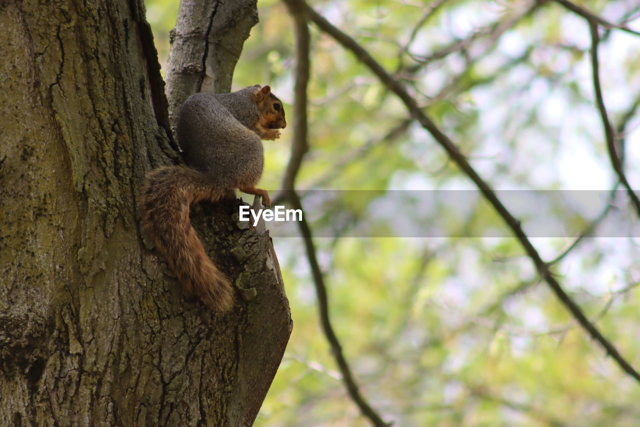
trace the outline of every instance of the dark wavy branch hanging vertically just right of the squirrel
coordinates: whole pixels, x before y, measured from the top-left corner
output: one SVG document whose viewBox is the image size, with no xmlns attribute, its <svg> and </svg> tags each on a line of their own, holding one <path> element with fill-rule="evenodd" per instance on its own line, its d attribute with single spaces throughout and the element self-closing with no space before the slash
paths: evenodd
<svg viewBox="0 0 640 427">
<path fill-rule="evenodd" d="M 296 34 L 296 84 L 294 100 L 294 136 L 291 146 L 291 157 L 289 159 L 289 164 L 287 166 L 287 171 L 282 185 L 285 191 L 285 196 L 289 201 L 291 201 L 292 205 L 295 206 L 296 209 L 303 210 L 300 197 L 295 190 L 295 181 L 296 176 L 300 171 L 300 167 L 302 166 L 303 158 L 308 151 L 307 86 L 310 73 L 310 35 L 307 22 L 307 10 L 304 7 L 304 3 L 299 3 L 294 0 L 284 0 L 284 3 L 287 5 L 289 13 L 291 13 L 294 20 Z M 351 373 L 351 368 L 349 368 L 349 364 L 342 353 L 340 341 L 333 331 L 329 316 L 329 304 L 326 286 L 324 285 L 324 276 L 317 261 L 316 246 L 314 245 L 311 228 L 307 223 L 306 215 L 304 213 L 302 214 L 301 221 L 298 221 L 298 226 L 300 227 L 300 234 L 305 242 L 307 260 L 314 279 L 314 286 L 316 287 L 320 323 L 322 325 L 324 335 L 331 346 L 332 354 L 340 369 L 340 373 L 342 373 L 342 381 L 346 386 L 349 396 L 351 396 L 351 399 L 355 402 L 358 408 L 360 408 L 362 414 L 367 417 L 375 427 L 388 427 L 391 424 L 385 423 L 376 410 L 367 403 L 364 396 L 360 394 L 358 385 Z"/>
</svg>

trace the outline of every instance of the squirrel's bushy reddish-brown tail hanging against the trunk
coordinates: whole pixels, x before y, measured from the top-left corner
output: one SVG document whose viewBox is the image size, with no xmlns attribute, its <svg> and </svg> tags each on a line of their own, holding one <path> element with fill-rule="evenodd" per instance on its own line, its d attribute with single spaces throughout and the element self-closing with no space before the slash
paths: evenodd
<svg viewBox="0 0 640 427">
<path fill-rule="evenodd" d="M 186 293 L 221 313 L 233 306 L 234 290 L 204 251 L 189 221 L 189 207 L 222 197 L 194 169 L 166 166 L 147 174 L 141 203 L 142 224 Z"/>
</svg>

